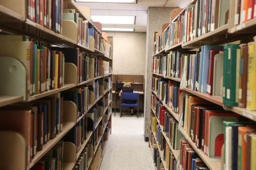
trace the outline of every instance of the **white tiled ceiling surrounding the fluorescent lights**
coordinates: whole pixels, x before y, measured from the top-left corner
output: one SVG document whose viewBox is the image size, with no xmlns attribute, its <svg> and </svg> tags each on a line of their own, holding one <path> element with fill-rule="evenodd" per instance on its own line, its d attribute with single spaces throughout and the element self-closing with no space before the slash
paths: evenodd
<svg viewBox="0 0 256 170">
<path fill-rule="evenodd" d="M 135 32 L 146 32 L 148 7 L 184 8 L 190 0 L 137 0 L 137 3 L 82 3 L 87 6 L 91 15 L 135 16 L 134 25 L 102 24 L 102 28 L 134 28 Z"/>
</svg>

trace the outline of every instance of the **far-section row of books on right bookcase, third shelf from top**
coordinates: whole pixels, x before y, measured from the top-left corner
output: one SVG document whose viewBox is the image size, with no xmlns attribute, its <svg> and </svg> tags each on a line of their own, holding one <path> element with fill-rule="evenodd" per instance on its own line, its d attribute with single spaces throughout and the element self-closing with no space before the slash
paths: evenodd
<svg viewBox="0 0 256 170">
<path fill-rule="evenodd" d="M 164 105 L 170 107 L 174 113 L 179 113 L 180 108 L 179 96 L 182 90 L 180 90 L 179 87 L 179 82 L 165 79 L 163 77 L 152 77 L 152 91 L 154 91 L 156 93 L 156 97 L 162 101 Z M 154 97 L 154 94 L 152 94 L 151 97 Z"/>
</svg>

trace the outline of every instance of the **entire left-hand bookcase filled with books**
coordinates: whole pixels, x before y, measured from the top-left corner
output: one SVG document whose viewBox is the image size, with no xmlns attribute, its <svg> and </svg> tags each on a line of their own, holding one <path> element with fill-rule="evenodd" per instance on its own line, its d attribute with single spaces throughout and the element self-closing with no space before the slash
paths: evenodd
<svg viewBox="0 0 256 170">
<path fill-rule="evenodd" d="M 1 81 L 0 90 L 1 116 L 7 122 L 10 119 L 5 115 L 7 110 L 12 113 L 26 108 L 30 115 L 27 120 L 30 120 L 31 125 L 20 127 L 29 132 L 30 135 L 27 136 L 24 136 L 24 131 L 13 127 L 12 123 L 5 124 L 5 127 L 1 125 L 0 136 L 5 140 L 0 142 L 0 169 L 36 169 L 42 162 L 47 162 L 43 163 L 47 166 L 49 162 L 55 161 L 55 165 L 59 164 L 59 168 L 63 170 L 73 170 L 81 164 L 86 165 L 85 170 L 99 169 L 111 134 L 113 42 L 102 32 L 101 23 L 91 22 L 90 9 L 78 7 L 74 0 L 52 0 L 51 5 L 55 2 L 59 5 L 56 8 L 49 6 L 48 1 L 42 1 L 44 11 L 39 4 L 30 2 L 32 1 L 27 3 L 26 0 L 11 0 L 0 3 L 1 46 L 4 46 L 4 42 L 18 41 L 17 45 L 1 49 L 0 52 L 0 77 L 4 80 Z M 41 17 L 33 13 L 33 8 L 37 7 L 42 10 Z M 51 9 L 55 10 L 55 14 L 60 14 L 58 19 L 53 15 L 49 17 L 53 14 Z M 79 16 L 81 23 L 64 19 L 63 13 L 68 10 L 74 16 Z M 53 23 L 46 19 L 48 17 Z M 92 30 L 90 34 L 89 28 Z M 81 34 L 82 31 L 84 34 Z M 9 36 L 9 40 L 5 40 L 5 36 Z M 15 36 L 26 40 L 15 40 Z M 30 46 L 25 53 L 22 52 L 26 48 L 19 46 L 23 43 Z M 35 50 L 38 53 L 34 54 L 33 49 L 41 46 L 44 48 Z M 17 53 L 20 52 L 19 55 L 12 52 L 15 48 Z M 76 62 L 72 59 L 66 62 L 71 49 L 78 51 L 72 54 L 73 58 L 77 57 Z M 51 60 L 51 51 L 55 51 L 53 56 L 58 54 L 58 62 L 57 58 Z M 38 57 L 38 62 L 32 63 L 36 61 L 34 57 Z M 52 72 L 50 62 L 47 61 L 55 64 Z M 37 71 L 34 67 L 38 67 Z M 50 73 L 56 78 L 51 77 Z M 38 80 L 35 81 L 35 87 L 34 80 Z M 89 90 L 89 87 L 93 90 Z M 64 92 L 69 91 L 81 91 L 81 98 L 75 95 L 68 99 L 73 96 L 70 93 L 64 99 Z M 49 99 L 58 101 L 58 104 L 50 104 Z M 99 111 L 97 115 L 91 114 L 95 108 Z M 96 118 L 92 119 L 94 126 L 85 122 L 89 113 Z M 41 148 L 35 141 L 41 144 Z M 58 150 L 59 160 L 50 156 L 52 150 Z M 12 164 L 12 161 L 17 164 Z"/>
</svg>

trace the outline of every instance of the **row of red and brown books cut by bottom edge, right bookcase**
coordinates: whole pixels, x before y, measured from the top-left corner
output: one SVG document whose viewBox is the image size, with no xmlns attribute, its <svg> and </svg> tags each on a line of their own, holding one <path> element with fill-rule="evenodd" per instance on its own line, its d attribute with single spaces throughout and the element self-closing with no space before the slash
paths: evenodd
<svg viewBox="0 0 256 170">
<path fill-rule="evenodd" d="M 209 170 L 186 139 L 180 140 L 179 170 Z"/>
</svg>

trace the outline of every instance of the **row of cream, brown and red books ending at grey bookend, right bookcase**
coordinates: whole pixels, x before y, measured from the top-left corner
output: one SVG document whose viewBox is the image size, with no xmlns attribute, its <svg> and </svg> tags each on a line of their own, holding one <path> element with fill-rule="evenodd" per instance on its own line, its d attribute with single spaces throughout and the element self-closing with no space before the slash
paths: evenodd
<svg viewBox="0 0 256 170">
<path fill-rule="evenodd" d="M 208 157 L 220 159 L 224 144 L 223 121 L 239 121 L 239 114 L 183 92 L 182 126 L 187 135 Z M 179 122 L 181 123 L 181 122 Z M 218 139 L 218 140 L 217 140 Z"/>
</svg>

